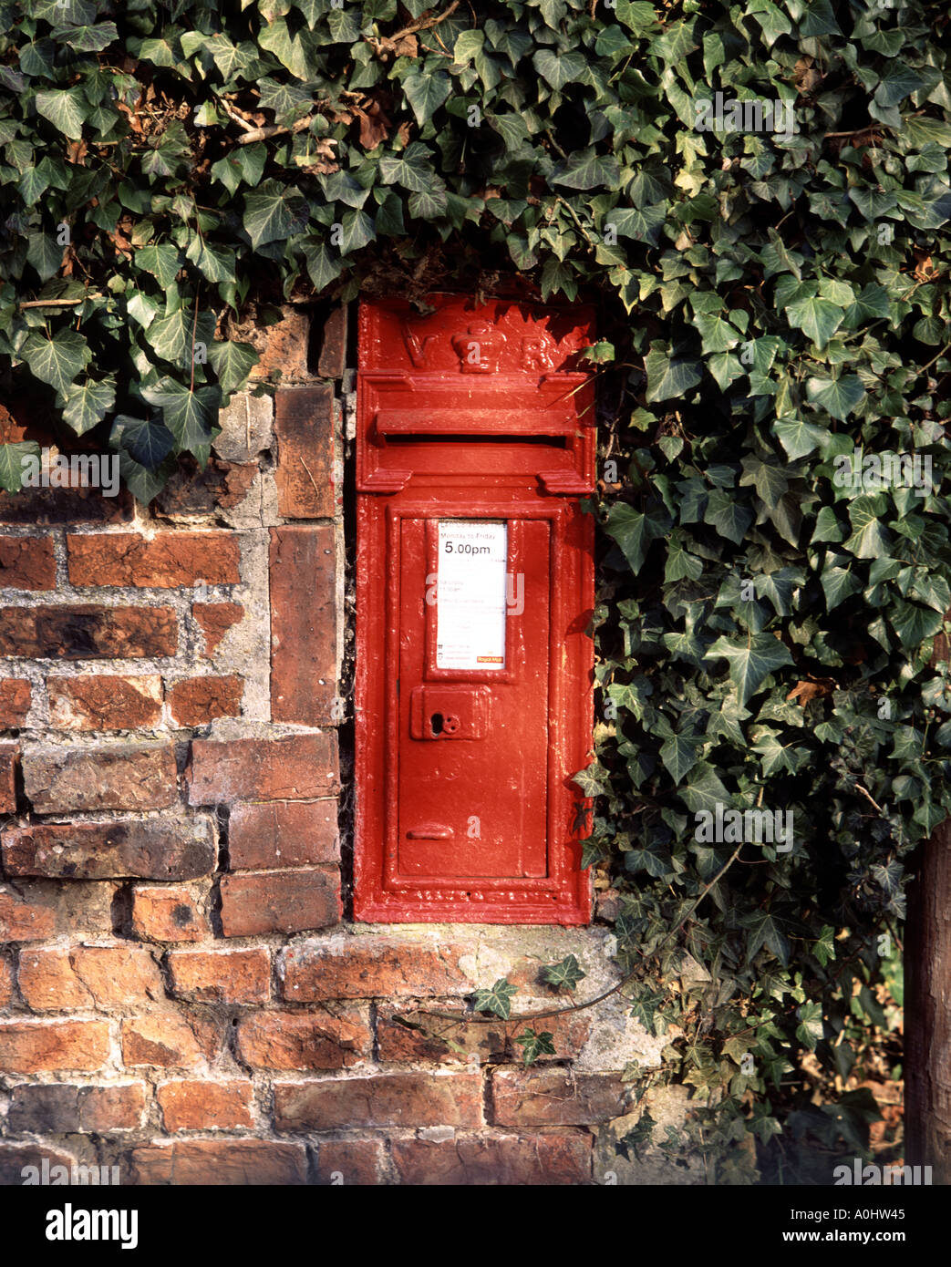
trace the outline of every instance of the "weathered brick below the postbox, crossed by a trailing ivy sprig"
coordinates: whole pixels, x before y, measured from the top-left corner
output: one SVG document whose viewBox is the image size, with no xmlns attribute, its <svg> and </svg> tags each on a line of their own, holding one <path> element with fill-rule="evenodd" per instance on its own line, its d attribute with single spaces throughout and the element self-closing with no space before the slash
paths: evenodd
<svg viewBox="0 0 951 1267">
<path fill-rule="evenodd" d="M 398 1015 L 411 1025 L 422 1029 L 407 1029 L 393 1017 Z M 552 1034 L 555 1052 L 562 1059 L 577 1057 L 591 1036 L 592 1020 L 590 1012 L 566 1012 L 562 1016 L 545 1017 L 545 1029 Z M 383 1063 L 437 1060 L 440 1064 L 465 1062 L 470 1055 L 481 1060 L 519 1059 L 521 1047 L 515 1041 L 517 1028 L 495 1017 L 482 1017 L 478 1022 L 458 1024 L 440 1019 L 434 1022 L 425 1011 L 415 1011 L 398 1003 L 384 1003 L 377 1017 L 377 1040 L 379 1059 Z M 439 1035 L 439 1036 L 436 1036 Z M 446 1040 L 453 1043 L 450 1048 Z"/>
</svg>

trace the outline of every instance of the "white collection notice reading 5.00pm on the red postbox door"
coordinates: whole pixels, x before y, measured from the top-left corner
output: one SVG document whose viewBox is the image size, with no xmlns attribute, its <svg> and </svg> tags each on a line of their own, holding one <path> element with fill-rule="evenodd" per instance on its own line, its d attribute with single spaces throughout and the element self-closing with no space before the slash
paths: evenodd
<svg viewBox="0 0 951 1267">
<path fill-rule="evenodd" d="M 436 668 L 503 669 L 508 527 L 440 519 Z"/>
</svg>

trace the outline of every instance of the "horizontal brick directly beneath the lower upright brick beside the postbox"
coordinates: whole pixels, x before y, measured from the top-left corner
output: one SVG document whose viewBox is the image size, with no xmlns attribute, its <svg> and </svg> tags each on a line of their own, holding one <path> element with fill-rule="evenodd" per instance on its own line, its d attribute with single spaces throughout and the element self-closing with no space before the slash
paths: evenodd
<svg viewBox="0 0 951 1267">
<path fill-rule="evenodd" d="M 335 735 L 191 742 L 189 805 L 312 801 L 336 791 Z"/>
</svg>

